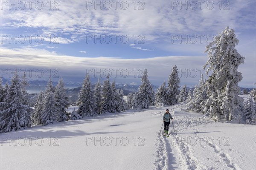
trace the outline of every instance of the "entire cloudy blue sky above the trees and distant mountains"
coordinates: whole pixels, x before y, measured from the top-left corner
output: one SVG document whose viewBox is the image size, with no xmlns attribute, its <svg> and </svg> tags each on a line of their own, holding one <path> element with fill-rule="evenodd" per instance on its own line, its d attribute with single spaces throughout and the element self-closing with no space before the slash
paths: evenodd
<svg viewBox="0 0 256 170">
<path fill-rule="evenodd" d="M 65 82 L 81 82 L 90 71 L 95 82 L 99 76 L 103 81 L 110 70 L 117 83 L 140 83 L 138 75 L 147 68 L 150 81 L 161 85 L 177 65 L 181 85 L 193 87 L 207 62 L 205 46 L 230 26 L 239 39 L 236 48 L 245 57 L 239 66 L 243 75 L 239 85 L 255 86 L 254 0 L 0 3 L 0 66 L 6 78 L 17 68 L 26 73 L 32 70 L 29 79 L 63 77 Z M 58 77 L 49 76 L 49 69 Z M 38 70 L 44 76 L 38 76 Z"/>
</svg>

